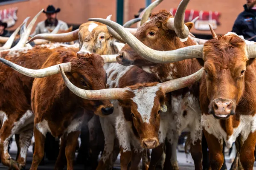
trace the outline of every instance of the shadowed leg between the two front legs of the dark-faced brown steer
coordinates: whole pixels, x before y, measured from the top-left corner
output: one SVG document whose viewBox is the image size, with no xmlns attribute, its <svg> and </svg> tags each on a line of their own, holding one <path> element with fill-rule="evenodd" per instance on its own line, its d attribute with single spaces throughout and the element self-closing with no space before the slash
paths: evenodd
<svg viewBox="0 0 256 170">
<path fill-rule="evenodd" d="M 58 154 L 58 158 L 57 161 L 55 163 L 55 170 L 63 170 L 64 169 L 64 163 L 66 162 L 66 157 L 65 157 L 65 148 L 66 148 L 66 144 L 67 144 L 67 140 L 66 140 L 65 135 L 63 135 L 61 137 L 61 146 L 60 146 L 60 151 Z"/>
</svg>

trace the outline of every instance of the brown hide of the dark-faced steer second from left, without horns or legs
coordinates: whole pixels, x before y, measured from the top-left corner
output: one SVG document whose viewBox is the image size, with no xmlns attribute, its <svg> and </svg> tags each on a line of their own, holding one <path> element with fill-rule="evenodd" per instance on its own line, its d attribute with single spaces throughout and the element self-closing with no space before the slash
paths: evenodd
<svg viewBox="0 0 256 170">
<path fill-rule="evenodd" d="M 71 62 L 71 72 L 66 73 L 70 81 L 87 90 L 104 89 L 107 75 L 103 68 L 104 60 L 98 54 L 76 56 L 74 52 L 53 53 L 42 68 L 59 63 Z M 101 109 L 113 107 L 109 101 L 91 101 L 73 94 L 65 85 L 61 74 L 36 78 L 32 87 L 32 110 L 35 122 L 47 120 L 53 136 L 62 136 L 73 119 L 83 115 L 83 109 L 101 115 Z"/>
</svg>

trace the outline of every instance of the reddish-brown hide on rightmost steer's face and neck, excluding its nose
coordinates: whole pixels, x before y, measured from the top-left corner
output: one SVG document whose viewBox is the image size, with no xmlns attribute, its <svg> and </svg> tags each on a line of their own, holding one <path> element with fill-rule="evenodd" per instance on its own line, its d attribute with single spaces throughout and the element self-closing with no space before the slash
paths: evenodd
<svg viewBox="0 0 256 170">
<path fill-rule="evenodd" d="M 235 35 L 218 37 L 204 45 L 204 68 L 207 71 L 200 85 L 200 105 L 204 114 L 215 114 L 212 101 L 217 98 L 233 101 L 233 116 L 221 119 L 228 135 L 238 127 L 240 115 L 256 113 L 256 62 L 248 59 L 246 45 Z M 243 72 L 243 70 L 246 70 Z"/>
</svg>

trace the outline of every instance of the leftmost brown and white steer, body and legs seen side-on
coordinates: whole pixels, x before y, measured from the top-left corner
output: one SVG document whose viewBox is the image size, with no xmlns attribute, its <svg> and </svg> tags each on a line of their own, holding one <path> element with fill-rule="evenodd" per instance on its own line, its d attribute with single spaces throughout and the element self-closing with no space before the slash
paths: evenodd
<svg viewBox="0 0 256 170">
<path fill-rule="evenodd" d="M 27 68 L 38 69 L 55 51 L 78 51 L 78 45 L 60 45 L 48 48 L 46 45 L 34 48 L 0 51 L 0 56 L 11 62 Z M 67 47 L 69 49 L 65 49 Z M 73 47 L 73 48 L 72 48 Z M 0 155 L 4 165 L 16 170 L 24 168 L 26 153 L 33 135 L 34 114 L 31 109 L 31 89 L 33 78 L 28 78 L 0 64 L 0 119 L 3 122 L 0 129 Z M 14 134 L 19 134 L 20 153 L 17 162 L 8 153 L 9 140 Z"/>
</svg>

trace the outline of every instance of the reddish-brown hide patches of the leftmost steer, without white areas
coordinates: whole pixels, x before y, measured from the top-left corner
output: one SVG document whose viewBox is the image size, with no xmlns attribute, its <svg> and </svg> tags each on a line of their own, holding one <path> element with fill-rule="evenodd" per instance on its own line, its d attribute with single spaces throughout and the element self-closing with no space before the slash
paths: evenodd
<svg viewBox="0 0 256 170">
<path fill-rule="evenodd" d="M 14 51 L 9 54 L 8 52 L 2 52 L 1 56 L 23 67 L 39 69 L 50 54 L 64 50 L 67 49 L 63 47 L 49 49 L 36 46 L 27 51 Z M 71 48 L 70 50 L 74 49 Z M 0 63 L 0 73 L 0 94 L 4 96 L 0 98 L 0 111 L 7 114 L 7 123 L 12 124 L 20 119 L 27 110 L 31 110 L 30 95 L 34 79 L 18 73 L 3 63 Z M 5 139 L 9 135 L 6 133 L 2 137 Z"/>
</svg>

